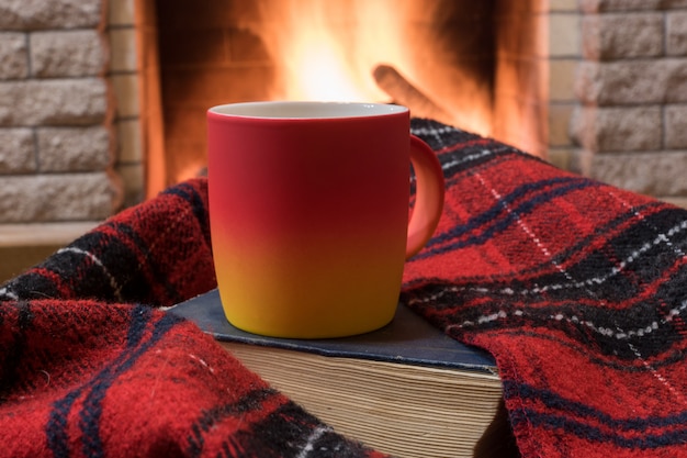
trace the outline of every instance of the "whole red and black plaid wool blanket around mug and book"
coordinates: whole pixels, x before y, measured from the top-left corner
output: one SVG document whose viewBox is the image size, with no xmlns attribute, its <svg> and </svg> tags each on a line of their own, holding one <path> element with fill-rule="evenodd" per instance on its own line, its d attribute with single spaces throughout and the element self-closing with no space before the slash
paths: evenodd
<svg viewBox="0 0 687 458">
<path fill-rule="evenodd" d="M 481 453 L 687 457 L 687 211 L 413 131 L 447 199 L 401 299 L 494 355 L 513 442 Z M 0 456 L 382 456 L 165 312 L 215 286 L 206 199 L 202 178 L 174 186 L 0 288 Z"/>
</svg>

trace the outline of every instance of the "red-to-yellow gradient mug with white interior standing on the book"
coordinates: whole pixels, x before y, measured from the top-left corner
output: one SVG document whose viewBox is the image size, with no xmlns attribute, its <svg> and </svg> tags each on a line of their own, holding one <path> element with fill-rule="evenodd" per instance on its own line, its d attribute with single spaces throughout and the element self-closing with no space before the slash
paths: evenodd
<svg viewBox="0 0 687 458">
<path fill-rule="evenodd" d="M 229 323 L 323 338 L 393 319 L 405 259 L 430 238 L 443 205 L 441 166 L 409 134 L 408 109 L 219 105 L 207 111 L 207 145 L 212 247 Z"/>
</svg>

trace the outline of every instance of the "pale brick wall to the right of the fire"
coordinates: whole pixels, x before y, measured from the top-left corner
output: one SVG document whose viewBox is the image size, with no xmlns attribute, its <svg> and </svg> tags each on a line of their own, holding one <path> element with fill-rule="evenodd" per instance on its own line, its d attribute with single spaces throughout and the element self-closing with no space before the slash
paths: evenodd
<svg viewBox="0 0 687 458">
<path fill-rule="evenodd" d="M 583 174 L 687 204 L 687 1 L 579 0 Z"/>
</svg>

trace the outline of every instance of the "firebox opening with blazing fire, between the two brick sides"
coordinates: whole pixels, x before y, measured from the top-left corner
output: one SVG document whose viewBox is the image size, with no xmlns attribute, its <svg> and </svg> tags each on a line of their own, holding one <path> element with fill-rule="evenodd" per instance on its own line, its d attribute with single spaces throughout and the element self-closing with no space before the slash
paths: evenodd
<svg viewBox="0 0 687 458">
<path fill-rule="evenodd" d="M 204 167 L 205 111 L 221 103 L 394 102 L 481 135 L 508 131 L 496 100 L 510 55 L 500 45 L 506 1 L 149 2 L 143 22 L 156 29 L 148 58 L 158 71 L 144 72 L 144 103 L 159 107 L 142 110 L 157 129 L 146 134 L 158 149 L 148 152 L 148 196 Z M 504 100 L 518 103 L 518 89 L 508 91 Z"/>
</svg>

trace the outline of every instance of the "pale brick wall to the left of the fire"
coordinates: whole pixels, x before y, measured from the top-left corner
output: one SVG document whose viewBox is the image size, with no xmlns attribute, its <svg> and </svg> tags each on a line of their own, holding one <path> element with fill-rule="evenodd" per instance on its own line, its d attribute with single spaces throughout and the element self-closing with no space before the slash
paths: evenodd
<svg viewBox="0 0 687 458">
<path fill-rule="evenodd" d="M 103 24 L 100 0 L 0 0 L 0 223 L 120 204 Z"/>
</svg>

